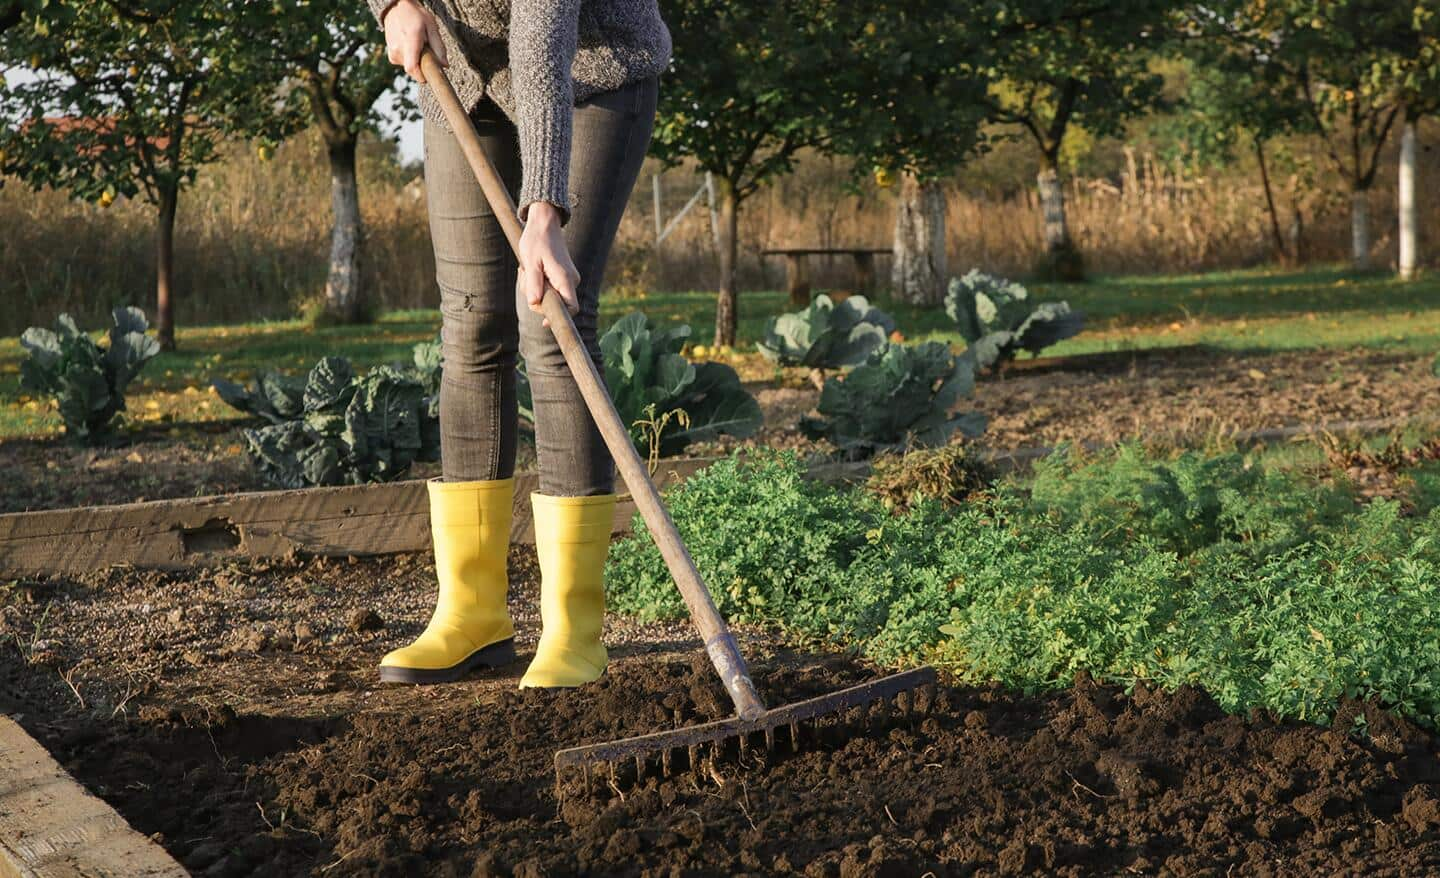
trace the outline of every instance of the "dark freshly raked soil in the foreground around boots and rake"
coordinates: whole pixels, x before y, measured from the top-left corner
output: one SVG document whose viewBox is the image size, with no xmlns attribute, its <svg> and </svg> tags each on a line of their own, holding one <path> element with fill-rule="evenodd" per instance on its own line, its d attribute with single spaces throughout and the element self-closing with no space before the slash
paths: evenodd
<svg viewBox="0 0 1440 878">
<path fill-rule="evenodd" d="M 1086 679 L 942 687 L 914 717 L 806 733 L 799 754 L 782 734 L 773 756 L 624 767 L 560 800 L 556 748 L 729 711 L 677 626 L 613 625 L 599 684 L 517 691 L 533 558 L 511 570 L 521 661 L 435 688 L 373 671 L 423 623 L 420 556 L 17 583 L 0 592 L 0 707 L 203 875 L 1440 869 L 1430 733 L 1364 704 L 1326 730 Z M 878 674 L 742 633 L 770 702 Z"/>
</svg>

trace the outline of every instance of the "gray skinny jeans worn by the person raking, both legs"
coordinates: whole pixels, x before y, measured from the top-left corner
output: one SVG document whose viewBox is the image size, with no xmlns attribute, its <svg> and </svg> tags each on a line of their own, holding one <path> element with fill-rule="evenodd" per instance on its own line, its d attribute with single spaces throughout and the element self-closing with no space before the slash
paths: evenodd
<svg viewBox="0 0 1440 878">
<path fill-rule="evenodd" d="M 564 240 L 580 272 L 575 325 L 600 364 L 600 279 L 655 122 L 657 79 L 595 95 L 575 108 L 570 220 Z M 471 114 L 485 154 L 520 190 L 516 127 L 488 99 Z M 516 289 L 516 258 L 459 141 L 425 124 L 425 183 L 441 288 L 441 471 L 445 481 L 503 479 L 516 471 L 516 353 L 534 397 L 540 492 L 611 494 L 615 466 L 560 347 Z M 602 370 L 603 373 L 603 370 Z"/>
</svg>

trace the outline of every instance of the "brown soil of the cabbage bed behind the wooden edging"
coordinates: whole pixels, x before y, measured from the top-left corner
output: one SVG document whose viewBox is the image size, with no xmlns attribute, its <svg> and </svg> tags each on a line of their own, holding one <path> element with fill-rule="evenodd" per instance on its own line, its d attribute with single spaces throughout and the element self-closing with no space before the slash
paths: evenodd
<svg viewBox="0 0 1440 878">
<path fill-rule="evenodd" d="M 1015 449 L 1060 442 L 1125 439 L 1195 440 L 1212 433 L 1318 425 L 1338 420 L 1414 417 L 1440 409 L 1440 379 L 1430 358 L 1391 351 L 1299 351 L 1254 356 L 1181 350 L 1125 361 L 1074 358 L 1064 368 L 1012 371 L 982 379 L 975 409 L 989 416 L 982 446 Z M 1122 367 L 1116 368 L 1120 363 Z M 737 446 L 816 446 L 798 429 L 819 394 L 801 370 L 782 384 L 749 384 L 765 427 L 744 440 L 723 439 L 687 453 L 724 453 Z M 521 442 L 518 465 L 534 449 Z M 144 427 L 124 442 L 76 449 L 62 439 L 0 440 L 0 512 L 261 491 L 238 426 Z M 416 465 L 410 478 L 438 472 Z"/>
</svg>

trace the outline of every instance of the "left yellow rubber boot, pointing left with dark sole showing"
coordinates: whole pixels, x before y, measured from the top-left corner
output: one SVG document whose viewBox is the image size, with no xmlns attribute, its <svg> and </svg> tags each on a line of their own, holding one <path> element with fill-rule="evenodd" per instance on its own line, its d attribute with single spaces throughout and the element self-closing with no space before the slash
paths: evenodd
<svg viewBox="0 0 1440 878">
<path fill-rule="evenodd" d="M 477 668 L 516 661 L 505 607 L 514 479 L 426 482 L 439 596 L 429 625 L 380 659 L 386 682 L 452 682 Z"/>
</svg>

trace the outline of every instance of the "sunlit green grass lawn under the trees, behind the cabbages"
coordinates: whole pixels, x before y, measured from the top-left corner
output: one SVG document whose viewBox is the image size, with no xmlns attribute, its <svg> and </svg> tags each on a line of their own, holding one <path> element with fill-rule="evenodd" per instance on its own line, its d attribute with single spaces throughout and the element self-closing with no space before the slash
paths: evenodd
<svg viewBox="0 0 1440 878">
<path fill-rule="evenodd" d="M 1038 299 L 1067 299 L 1089 318 L 1084 334 L 1047 351 L 1208 344 L 1233 350 L 1392 347 L 1440 351 L 1440 276 L 1413 282 L 1341 269 L 1243 271 L 1204 275 L 1099 278 L 1090 284 L 1034 285 Z M 910 341 L 963 344 L 945 311 L 881 302 Z M 696 341 L 710 341 L 714 294 L 654 292 L 611 298 L 602 320 L 632 309 L 685 321 Z M 753 351 L 769 317 L 788 308 L 783 292 L 740 294 L 740 348 Z M 397 311 L 366 327 L 314 328 L 298 321 L 181 327 L 179 348 L 157 357 L 131 386 L 140 420 L 216 420 L 235 413 L 210 390 L 215 377 L 248 381 L 262 368 L 300 371 L 327 354 L 357 366 L 408 360 L 416 341 L 433 337 L 438 311 Z M 59 430 L 45 400 L 20 390 L 19 338 L 0 338 L 0 438 Z M 763 374 L 756 354 L 739 354 L 747 374 Z"/>
</svg>

